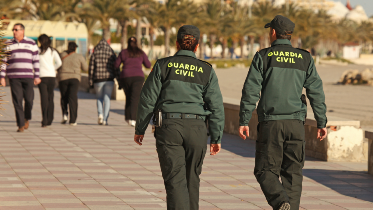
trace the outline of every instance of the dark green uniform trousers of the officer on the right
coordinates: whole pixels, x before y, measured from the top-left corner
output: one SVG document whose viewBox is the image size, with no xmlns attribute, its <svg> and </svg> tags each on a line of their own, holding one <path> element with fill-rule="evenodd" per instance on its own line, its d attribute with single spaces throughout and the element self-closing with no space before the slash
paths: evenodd
<svg viewBox="0 0 373 210">
<path fill-rule="evenodd" d="M 299 209 L 304 146 L 303 121 L 260 122 L 255 146 L 254 175 L 273 210 L 283 201 L 290 202 L 291 210 Z"/>
</svg>

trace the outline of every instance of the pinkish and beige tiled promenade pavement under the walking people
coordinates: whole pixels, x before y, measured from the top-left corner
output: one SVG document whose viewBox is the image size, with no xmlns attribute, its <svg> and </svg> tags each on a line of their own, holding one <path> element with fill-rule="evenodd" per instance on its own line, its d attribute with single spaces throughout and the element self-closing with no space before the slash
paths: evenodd
<svg viewBox="0 0 373 210">
<path fill-rule="evenodd" d="M 78 125 L 62 125 L 56 91 L 55 121 L 41 128 L 38 93 L 35 88 L 24 133 L 15 132 L 11 102 L 0 117 L 0 210 L 166 209 L 151 129 L 142 146 L 134 143 L 125 102 L 112 101 L 110 125 L 99 126 L 93 96 L 79 93 Z M 225 134 L 222 145 L 220 154 L 206 155 L 200 209 L 272 209 L 253 176 L 254 141 Z M 307 160 L 301 209 L 373 210 L 373 176 L 366 169 L 366 163 Z"/>
</svg>

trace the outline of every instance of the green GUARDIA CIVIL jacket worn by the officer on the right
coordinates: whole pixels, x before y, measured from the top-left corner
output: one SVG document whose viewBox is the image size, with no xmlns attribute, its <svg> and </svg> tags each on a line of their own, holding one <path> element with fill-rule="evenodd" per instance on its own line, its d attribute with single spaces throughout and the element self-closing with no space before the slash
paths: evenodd
<svg viewBox="0 0 373 210">
<path fill-rule="evenodd" d="M 326 126 L 323 83 L 312 56 L 294 48 L 289 40 L 276 40 L 258 51 L 242 89 L 239 125 L 247 126 L 257 107 L 258 121 L 304 120 L 307 106 L 302 103 L 303 87 L 313 109 L 318 128 Z M 259 93 L 261 92 L 261 95 Z"/>
</svg>

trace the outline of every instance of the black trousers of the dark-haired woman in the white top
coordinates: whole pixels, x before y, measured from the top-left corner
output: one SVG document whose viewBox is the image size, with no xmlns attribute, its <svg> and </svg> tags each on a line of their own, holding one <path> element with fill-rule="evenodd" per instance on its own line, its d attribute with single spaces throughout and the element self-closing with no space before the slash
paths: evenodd
<svg viewBox="0 0 373 210">
<path fill-rule="evenodd" d="M 41 77 L 39 84 L 41 114 L 43 120 L 41 124 L 49 126 L 52 124 L 54 116 L 54 86 L 56 85 L 56 77 Z"/>
</svg>

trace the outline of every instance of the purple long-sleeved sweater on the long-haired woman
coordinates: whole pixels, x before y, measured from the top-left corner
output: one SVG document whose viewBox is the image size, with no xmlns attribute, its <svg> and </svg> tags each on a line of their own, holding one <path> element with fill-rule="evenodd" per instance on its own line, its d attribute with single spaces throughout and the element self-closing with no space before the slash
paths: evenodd
<svg viewBox="0 0 373 210">
<path fill-rule="evenodd" d="M 115 61 L 115 68 L 119 68 L 121 63 L 123 63 L 123 70 L 120 73 L 120 78 L 144 77 L 141 65 L 144 64 L 146 68 L 151 67 L 148 56 L 145 53 L 140 57 L 130 58 L 127 49 L 119 53 Z"/>
</svg>

